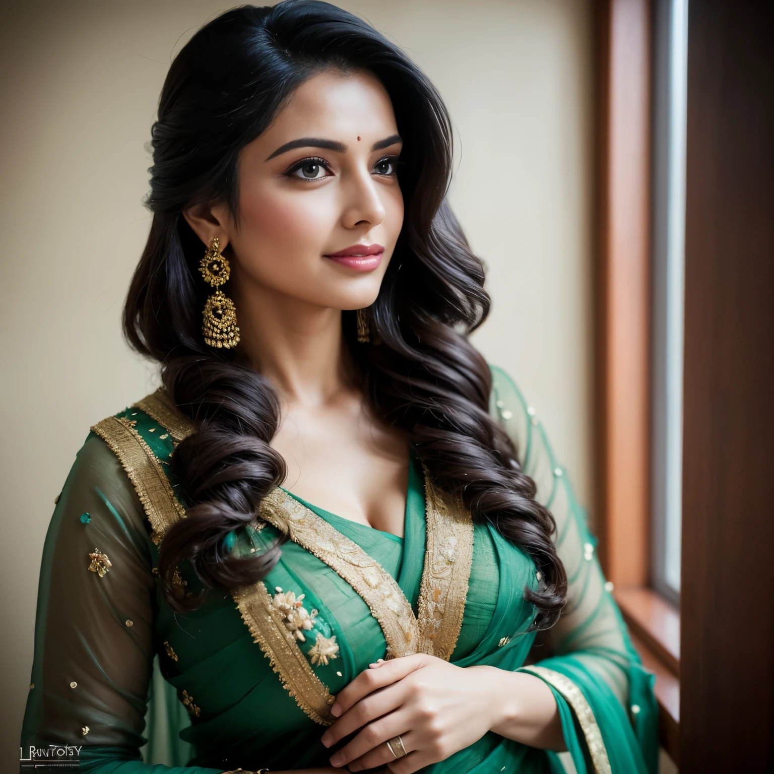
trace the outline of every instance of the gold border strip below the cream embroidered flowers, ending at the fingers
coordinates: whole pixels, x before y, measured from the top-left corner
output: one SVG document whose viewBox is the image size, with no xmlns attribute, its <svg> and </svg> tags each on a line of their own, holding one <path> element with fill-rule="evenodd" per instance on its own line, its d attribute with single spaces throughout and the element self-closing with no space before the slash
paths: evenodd
<svg viewBox="0 0 774 774">
<path fill-rule="evenodd" d="M 265 585 L 259 581 L 233 596 L 253 641 L 269 659 L 272 670 L 279 675 L 290 696 L 316 723 L 333 723 L 335 718 L 330 714 L 330 705 L 335 698 L 320 682 L 293 634 L 286 628 Z"/>
</svg>

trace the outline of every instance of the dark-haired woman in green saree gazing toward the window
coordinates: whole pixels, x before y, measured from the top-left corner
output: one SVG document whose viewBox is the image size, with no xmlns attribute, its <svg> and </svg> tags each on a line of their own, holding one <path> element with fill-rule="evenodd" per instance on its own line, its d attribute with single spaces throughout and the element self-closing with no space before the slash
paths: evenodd
<svg viewBox="0 0 774 774">
<path fill-rule="evenodd" d="M 248 6 L 176 57 L 152 146 L 125 330 L 163 389 L 92 428 L 58 498 L 22 748 L 652 771 L 584 515 L 467 341 L 488 296 L 432 85 L 334 6 Z"/>
</svg>

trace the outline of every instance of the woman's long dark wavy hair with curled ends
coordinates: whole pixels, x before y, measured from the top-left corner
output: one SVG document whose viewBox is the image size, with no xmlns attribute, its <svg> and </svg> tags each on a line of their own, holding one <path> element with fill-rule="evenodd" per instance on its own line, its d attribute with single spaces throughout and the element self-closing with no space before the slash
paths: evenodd
<svg viewBox="0 0 774 774">
<path fill-rule="evenodd" d="M 365 400 L 406 430 L 440 488 L 532 557 L 543 581 L 524 593 L 536 606 L 533 627 L 546 628 L 560 614 L 567 579 L 551 539 L 553 518 L 489 416 L 491 374 L 467 341 L 485 320 L 489 297 L 481 262 L 444 199 L 452 164 L 447 110 L 397 46 L 356 16 L 310 0 L 242 6 L 200 29 L 170 67 L 152 128 L 153 220 L 126 300 L 125 334 L 161 363 L 166 389 L 196 428 L 172 457 L 188 508 L 161 545 L 163 593 L 178 610 L 200 604 L 201 595 L 173 593 L 170 579 L 186 560 L 204 589 L 221 590 L 255 583 L 279 560 L 282 541 L 249 558 L 224 547 L 224 537 L 255 519 L 285 478 L 285 462 L 269 445 L 279 402 L 266 378 L 240 365 L 233 351 L 204 344 L 207 286 L 197 281 L 204 246 L 182 212 L 225 202 L 237 214 L 239 152 L 303 81 L 330 68 L 378 77 L 404 142 L 406 216 L 368 309 L 379 344 L 358 344 L 354 312 L 343 312 Z"/>
</svg>

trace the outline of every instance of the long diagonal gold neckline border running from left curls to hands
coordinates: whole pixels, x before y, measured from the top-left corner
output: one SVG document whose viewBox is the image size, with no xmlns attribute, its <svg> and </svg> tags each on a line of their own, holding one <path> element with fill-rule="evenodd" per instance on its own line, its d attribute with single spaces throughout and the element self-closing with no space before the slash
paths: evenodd
<svg viewBox="0 0 774 774">
<path fill-rule="evenodd" d="M 260 516 L 335 570 L 368 604 L 387 642 L 387 658 L 432 653 L 409 601 L 396 580 L 364 550 L 320 519 L 286 491 L 276 488 L 261 503 Z"/>
</svg>

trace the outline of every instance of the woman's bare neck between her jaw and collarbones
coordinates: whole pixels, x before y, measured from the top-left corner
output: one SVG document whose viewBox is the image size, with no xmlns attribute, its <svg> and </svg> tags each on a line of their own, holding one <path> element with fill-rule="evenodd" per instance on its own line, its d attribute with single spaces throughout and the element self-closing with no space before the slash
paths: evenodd
<svg viewBox="0 0 774 774">
<path fill-rule="evenodd" d="M 320 405 L 348 386 L 340 310 L 249 280 L 235 286 L 234 296 L 241 352 L 283 401 Z"/>
</svg>

